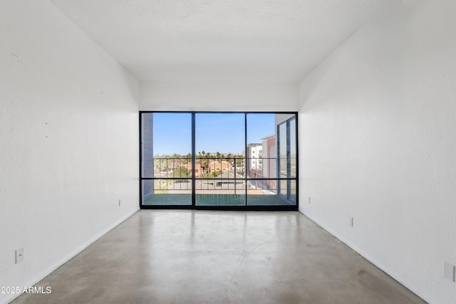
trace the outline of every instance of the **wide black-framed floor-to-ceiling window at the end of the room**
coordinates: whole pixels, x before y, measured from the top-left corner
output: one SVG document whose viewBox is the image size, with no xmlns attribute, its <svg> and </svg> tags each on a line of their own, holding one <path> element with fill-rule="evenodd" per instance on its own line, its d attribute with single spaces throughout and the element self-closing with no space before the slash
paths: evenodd
<svg viewBox="0 0 456 304">
<path fill-rule="evenodd" d="M 296 112 L 140 112 L 140 206 L 297 209 L 296 127 Z"/>
</svg>

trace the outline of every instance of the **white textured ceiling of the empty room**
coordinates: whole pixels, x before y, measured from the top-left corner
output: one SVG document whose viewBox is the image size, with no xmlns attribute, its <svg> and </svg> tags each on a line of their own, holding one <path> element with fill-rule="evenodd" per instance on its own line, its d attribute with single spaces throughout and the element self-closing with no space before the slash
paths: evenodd
<svg viewBox="0 0 456 304">
<path fill-rule="evenodd" d="M 51 0 L 141 82 L 297 83 L 398 0 Z"/>
</svg>

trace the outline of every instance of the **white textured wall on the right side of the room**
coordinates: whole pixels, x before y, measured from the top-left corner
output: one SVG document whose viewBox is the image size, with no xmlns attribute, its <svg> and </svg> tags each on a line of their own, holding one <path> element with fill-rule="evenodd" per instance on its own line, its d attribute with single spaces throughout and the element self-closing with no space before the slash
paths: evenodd
<svg viewBox="0 0 456 304">
<path fill-rule="evenodd" d="M 402 1 L 300 84 L 300 210 L 430 303 L 456 303 L 455 12 Z"/>
</svg>

